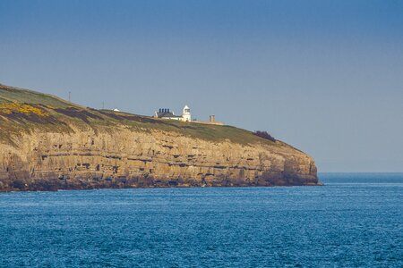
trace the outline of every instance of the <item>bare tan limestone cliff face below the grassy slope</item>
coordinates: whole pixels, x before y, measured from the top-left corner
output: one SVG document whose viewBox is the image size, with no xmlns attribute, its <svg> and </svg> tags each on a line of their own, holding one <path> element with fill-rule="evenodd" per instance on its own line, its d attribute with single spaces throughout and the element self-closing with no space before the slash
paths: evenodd
<svg viewBox="0 0 403 268">
<path fill-rule="evenodd" d="M 0 143 L 0 191 L 316 185 L 313 159 L 276 141 L 243 145 L 124 126 L 32 130 Z"/>
</svg>

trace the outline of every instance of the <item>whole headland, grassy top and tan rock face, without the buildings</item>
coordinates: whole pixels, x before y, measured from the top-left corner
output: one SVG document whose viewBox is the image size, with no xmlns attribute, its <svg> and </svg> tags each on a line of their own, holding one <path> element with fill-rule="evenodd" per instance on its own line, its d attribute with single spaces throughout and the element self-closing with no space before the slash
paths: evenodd
<svg viewBox="0 0 403 268">
<path fill-rule="evenodd" d="M 312 157 L 247 130 L 0 85 L 0 191 L 317 184 Z"/>
</svg>

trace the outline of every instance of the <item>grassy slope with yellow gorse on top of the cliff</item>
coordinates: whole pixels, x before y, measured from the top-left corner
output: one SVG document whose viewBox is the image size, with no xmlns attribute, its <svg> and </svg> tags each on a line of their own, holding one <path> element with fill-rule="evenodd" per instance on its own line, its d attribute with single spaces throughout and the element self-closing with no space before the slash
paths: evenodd
<svg viewBox="0 0 403 268">
<path fill-rule="evenodd" d="M 33 128 L 47 131 L 71 131 L 70 125 L 94 130 L 125 125 L 149 131 L 175 131 L 194 138 L 212 141 L 229 139 L 240 144 L 281 142 L 259 138 L 247 130 L 231 126 L 204 125 L 192 122 L 168 121 L 131 113 L 116 113 L 74 105 L 56 96 L 0 84 L 0 141 L 12 143 L 13 135 Z"/>
</svg>

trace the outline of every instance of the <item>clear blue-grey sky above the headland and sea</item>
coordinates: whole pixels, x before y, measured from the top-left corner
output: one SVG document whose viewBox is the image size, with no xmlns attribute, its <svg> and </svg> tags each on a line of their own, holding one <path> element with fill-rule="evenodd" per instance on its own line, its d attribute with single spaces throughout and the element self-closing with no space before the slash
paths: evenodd
<svg viewBox="0 0 403 268">
<path fill-rule="evenodd" d="M 403 1 L 0 0 L 0 83 L 275 138 L 319 172 L 403 172 Z"/>
</svg>

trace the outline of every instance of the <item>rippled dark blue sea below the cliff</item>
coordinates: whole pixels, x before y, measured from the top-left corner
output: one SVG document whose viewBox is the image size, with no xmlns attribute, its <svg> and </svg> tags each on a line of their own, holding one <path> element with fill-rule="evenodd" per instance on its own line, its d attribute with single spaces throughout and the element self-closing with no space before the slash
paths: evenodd
<svg viewBox="0 0 403 268">
<path fill-rule="evenodd" d="M 0 266 L 403 266 L 403 174 L 0 194 Z"/>
</svg>

